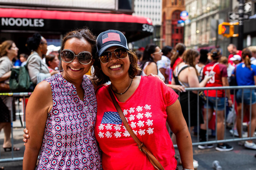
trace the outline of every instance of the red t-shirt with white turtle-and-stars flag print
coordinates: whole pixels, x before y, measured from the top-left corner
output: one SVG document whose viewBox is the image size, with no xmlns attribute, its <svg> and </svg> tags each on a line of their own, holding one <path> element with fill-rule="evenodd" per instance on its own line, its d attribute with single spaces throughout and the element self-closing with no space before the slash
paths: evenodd
<svg viewBox="0 0 256 170">
<path fill-rule="evenodd" d="M 98 109 L 94 130 L 102 150 L 103 169 L 154 170 L 123 125 L 109 95 L 109 88 L 99 88 L 96 93 Z M 177 99 L 178 95 L 158 78 L 142 76 L 134 94 L 125 102 L 118 102 L 140 141 L 165 169 L 173 170 L 177 161 L 166 129 L 166 107 Z"/>
</svg>

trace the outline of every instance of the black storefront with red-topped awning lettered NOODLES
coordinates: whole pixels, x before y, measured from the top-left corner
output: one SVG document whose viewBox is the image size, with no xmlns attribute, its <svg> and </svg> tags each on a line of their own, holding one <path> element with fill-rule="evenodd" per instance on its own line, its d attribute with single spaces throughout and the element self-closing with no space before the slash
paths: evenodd
<svg viewBox="0 0 256 170">
<path fill-rule="evenodd" d="M 0 18 L 0 41 L 14 40 L 19 53 L 28 53 L 26 39 L 34 32 L 41 33 L 48 44 L 60 45 L 66 32 L 84 26 L 95 35 L 108 29 L 119 30 L 128 42 L 150 36 L 154 31 L 149 18 L 127 14 L 0 8 Z"/>
</svg>

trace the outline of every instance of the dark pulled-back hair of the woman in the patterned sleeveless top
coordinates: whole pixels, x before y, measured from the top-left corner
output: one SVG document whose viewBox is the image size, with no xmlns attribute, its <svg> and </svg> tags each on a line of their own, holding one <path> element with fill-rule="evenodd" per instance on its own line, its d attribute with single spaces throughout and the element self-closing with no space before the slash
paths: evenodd
<svg viewBox="0 0 256 170">
<path fill-rule="evenodd" d="M 73 31 L 67 32 L 62 39 L 61 50 L 64 49 L 65 43 L 67 40 L 77 38 L 79 40 L 85 39 L 91 44 L 91 54 L 93 59 L 96 58 L 96 36 L 90 31 L 88 27 L 84 27 L 82 29 L 75 29 Z M 62 60 L 61 60 L 62 63 Z M 62 64 L 59 65 L 59 70 L 62 70 Z"/>
</svg>

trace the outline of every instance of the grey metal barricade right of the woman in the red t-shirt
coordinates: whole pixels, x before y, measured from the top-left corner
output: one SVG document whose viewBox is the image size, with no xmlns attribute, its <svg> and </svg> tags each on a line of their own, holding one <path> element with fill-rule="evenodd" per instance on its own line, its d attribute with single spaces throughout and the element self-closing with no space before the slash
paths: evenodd
<svg viewBox="0 0 256 170">
<path fill-rule="evenodd" d="M 244 95 L 244 89 L 250 89 L 250 109 L 249 109 L 249 113 L 250 113 L 250 122 L 251 122 L 251 112 L 252 112 L 252 90 L 253 89 L 256 89 L 256 86 L 222 86 L 222 87 L 197 87 L 197 88 L 185 88 L 186 91 L 188 91 L 188 127 L 189 127 L 189 130 L 190 130 L 190 91 L 198 91 L 197 92 L 197 142 L 193 142 L 192 145 L 195 146 L 195 145 L 205 145 L 205 144 L 214 144 L 214 143 L 223 143 L 223 142 L 235 142 L 235 141 L 245 141 L 245 140 L 254 140 L 256 139 L 256 137 L 241 137 L 241 138 L 235 138 L 234 137 L 234 133 L 233 133 L 233 138 L 231 139 L 223 139 L 223 140 L 217 140 L 217 114 L 216 114 L 216 119 L 215 119 L 215 140 L 212 140 L 212 141 L 209 141 L 209 137 L 208 137 L 208 130 L 209 130 L 209 127 L 208 127 L 208 121 L 206 121 L 206 142 L 199 142 L 199 127 L 200 127 L 200 124 L 199 124 L 199 91 L 207 91 L 206 92 L 206 108 L 207 108 L 207 111 L 206 111 L 206 117 L 207 117 L 207 120 L 208 120 L 208 108 L 209 108 L 209 96 L 208 96 L 208 91 L 209 90 L 216 90 L 216 99 L 215 99 L 215 107 L 216 107 L 216 110 L 217 110 L 217 90 L 225 90 L 225 98 L 226 98 L 226 92 L 227 90 L 238 90 L 238 89 L 242 89 L 242 109 L 241 109 L 241 134 L 242 134 L 242 131 L 243 131 L 243 126 L 242 126 L 242 123 L 243 123 L 243 116 L 244 116 L 244 113 L 243 113 L 243 104 L 244 104 L 244 99 L 243 99 L 243 95 Z M 180 95 L 180 92 L 178 92 L 178 95 Z M 235 103 L 235 97 L 236 94 L 234 92 L 234 100 L 232 101 L 233 104 Z M 226 105 L 226 103 L 225 103 Z M 224 134 L 226 133 L 226 123 L 225 123 L 225 120 L 226 120 L 226 107 L 224 109 L 224 124 L 225 124 L 225 128 L 224 128 Z M 233 119 L 233 125 L 235 125 L 235 122 L 234 122 L 234 119 Z M 251 124 L 250 124 L 250 127 L 249 127 L 249 134 L 251 134 Z M 225 135 L 224 135 L 225 136 Z M 177 147 L 177 145 L 174 145 L 174 147 Z"/>
</svg>

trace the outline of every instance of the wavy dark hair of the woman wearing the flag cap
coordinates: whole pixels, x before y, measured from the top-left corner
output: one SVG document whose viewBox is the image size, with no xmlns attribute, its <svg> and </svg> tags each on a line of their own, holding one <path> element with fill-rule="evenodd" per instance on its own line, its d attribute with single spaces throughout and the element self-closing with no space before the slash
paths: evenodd
<svg viewBox="0 0 256 170">
<path fill-rule="evenodd" d="M 137 64 L 138 57 L 132 50 L 128 51 L 128 57 L 130 60 L 130 67 L 128 70 L 128 74 L 131 78 L 134 78 L 141 70 L 139 68 L 139 65 Z M 120 60 L 122 60 L 122 59 L 120 59 Z M 95 84 L 101 85 L 101 84 L 104 84 L 104 83 L 110 81 L 109 77 L 106 76 L 101 69 L 101 61 L 99 60 L 99 58 L 95 59 L 95 61 L 93 63 L 93 67 L 94 67 L 93 80 L 94 80 Z"/>
</svg>

